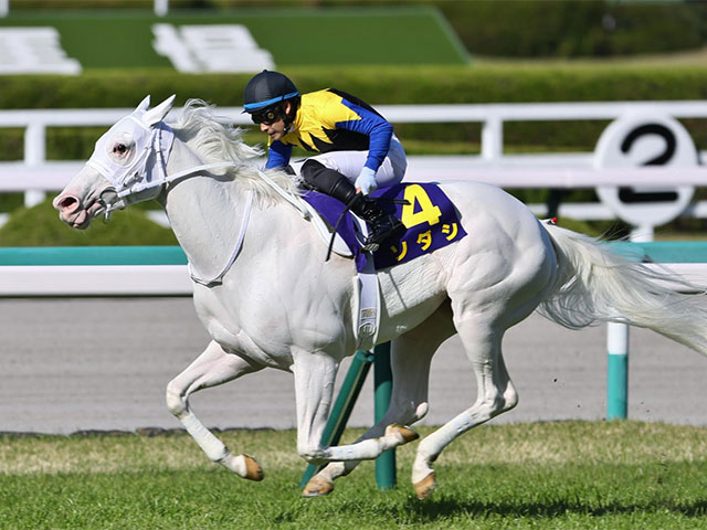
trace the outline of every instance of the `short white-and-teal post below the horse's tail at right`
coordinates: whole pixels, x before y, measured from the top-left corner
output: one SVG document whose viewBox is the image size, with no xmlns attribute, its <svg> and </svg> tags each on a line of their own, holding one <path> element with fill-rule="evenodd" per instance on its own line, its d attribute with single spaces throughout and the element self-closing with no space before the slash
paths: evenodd
<svg viewBox="0 0 707 530">
<path fill-rule="evenodd" d="M 606 350 L 606 420 L 625 420 L 629 415 L 629 326 L 608 325 Z"/>
</svg>

